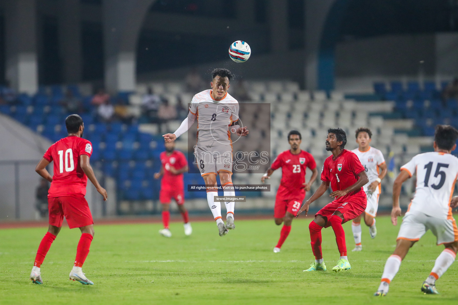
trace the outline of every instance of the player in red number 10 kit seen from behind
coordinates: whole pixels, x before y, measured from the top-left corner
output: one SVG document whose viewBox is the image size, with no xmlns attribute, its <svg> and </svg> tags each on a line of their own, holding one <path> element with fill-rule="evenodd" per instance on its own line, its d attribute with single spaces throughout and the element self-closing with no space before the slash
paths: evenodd
<svg viewBox="0 0 458 305">
<path fill-rule="evenodd" d="M 104 201 L 107 200 L 108 195 L 107 191 L 98 183 L 92 166 L 89 164 L 92 144 L 82 138 L 84 132 L 82 118 L 77 114 L 69 115 L 65 119 L 65 126 L 68 136 L 52 144 L 35 168 L 41 177 L 51 182 L 51 187 L 49 187 L 48 194 L 48 232 L 38 246 L 30 279 L 35 284 L 43 284 L 40 267 L 52 242 L 60 232 L 65 216 L 70 229 L 79 228 L 81 230 L 81 238 L 76 247 L 75 264 L 71 269 L 70 279 L 85 285 L 93 285 L 94 283 L 87 279 L 81 269 L 94 236 L 94 222 L 84 198 L 87 178 L 96 187 L 97 192 L 104 197 Z M 51 161 L 54 161 L 53 177 L 46 170 L 46 166 Z"/>
</svg>

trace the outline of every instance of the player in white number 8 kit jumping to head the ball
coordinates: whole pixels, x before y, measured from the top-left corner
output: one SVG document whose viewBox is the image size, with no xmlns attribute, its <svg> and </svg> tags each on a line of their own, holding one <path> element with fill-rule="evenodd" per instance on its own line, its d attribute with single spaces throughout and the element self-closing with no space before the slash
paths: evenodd
<svg viewBox="0 0 458 305">
<path fill-rule="evenodd" d="M 235 196 L 232 184 L 232 140 L 230 133 L 246 136 L 245 127 L 231 127 L 239 121 L 239 103 L 227 92 L 233 77 L 227 69 L 212 71 L 212 89 L 197 93 L 191 101 L 188 117 L 173 134 L 164 134 L 168 143 L 184 134 L 197 121 L 197 144 L 194 151 L 197 166 L 207 188 L 207 202 L 218 226 L 219 236 L 235 229 L 234 201 L 225 202 L 226 225 L 221 217 L 221 203 L 214 201 L 218 196 L 216 176 L 219 175 L 224 196 Z M 240 122 L 240 121 L 239 121 Z"/>
</svg>

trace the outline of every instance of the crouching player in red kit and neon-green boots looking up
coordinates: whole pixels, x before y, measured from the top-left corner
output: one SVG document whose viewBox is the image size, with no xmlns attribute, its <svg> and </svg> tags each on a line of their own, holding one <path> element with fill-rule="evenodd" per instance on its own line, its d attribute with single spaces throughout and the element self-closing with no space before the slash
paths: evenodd
<svg viewBox="0 0 458 305">
<path fill-rule="evenodd" d="M 349 270 L 351 268 L 347 258 L 347 246 L 345 244 L 345 231 L 342 224 L 361 215 L 366 208 L 366 194 L 362 186 L 369 182 L 364 167 L 358 156 L 350 150 L 345 150 L 347 135 L 340 128 L 327 130 L 326 150 L 333 154 L 326 158 L 321 173 L 321 185 L 316 192 L 305 201 L 297 216 L 305 211 L 316 199 L 320 198 L 329 188 L 333 192 L 329 195 L 334 200 L 315 214 L 315 219 L 310 223 L 310 240 L 315 262 L 305 271 L 326 271 L 321 251 L 321 230 L 329 226 L 333 227 L 336 235 L 337 247 L 340 258 L 333 271 Z M 296 217 L 297 217 L 296 216 Z"/>
</svg>

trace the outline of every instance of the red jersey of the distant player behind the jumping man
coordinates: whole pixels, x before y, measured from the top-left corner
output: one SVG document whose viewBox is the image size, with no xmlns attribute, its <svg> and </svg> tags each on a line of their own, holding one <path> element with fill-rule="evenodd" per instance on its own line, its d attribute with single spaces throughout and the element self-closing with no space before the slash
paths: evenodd
<svg viewBox="0 0 458 305">
<path fill-rule="evenodd" d="M 161 180 L 161 188 L 163 189 L 177 189 L 183 188 L 183 173 L 174 175 L 170 172 L 170 166 L 173 166 L 176 170 L 185 167 L 188 164 L 186 161 L 185 154 L 181 151 L 174 150 L 170 155 L 167 155 L 166 151 L 163 151 L 160 155 L 162 167 L 164 168 L 164 176 Z"/>
</svg>

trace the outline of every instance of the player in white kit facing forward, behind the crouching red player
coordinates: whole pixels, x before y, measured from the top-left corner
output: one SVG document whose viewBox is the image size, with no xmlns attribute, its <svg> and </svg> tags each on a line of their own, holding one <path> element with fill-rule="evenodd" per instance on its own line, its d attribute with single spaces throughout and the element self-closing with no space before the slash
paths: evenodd
<svg viewBox="0 0 458 305">
<path fill-rule="evenodd" d="M 380 197 L 380 182 L 387 175 L 387 164 L 380 150 L 371 147 L 372 132 L 369 128 L 356 129 L 356 143 L 358 148 L 352 150 L 360 159 L 366 170 L 369 182 L 363 187 L 367 197 L 367 207 L 364 211 L 364 222 L 369 227 L 369 234 L 372 238 L 377 235 L 375 216 L 378 209 L 378 198 Z M 362 214 L 361 214 L 362 215 Z M 361 215 L 353 219 L 351 230 L 353 231 L 355 247 L 352 251 L 361 251 Z"/>
</svg>

